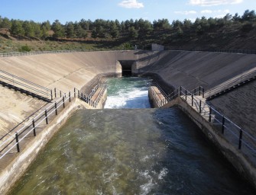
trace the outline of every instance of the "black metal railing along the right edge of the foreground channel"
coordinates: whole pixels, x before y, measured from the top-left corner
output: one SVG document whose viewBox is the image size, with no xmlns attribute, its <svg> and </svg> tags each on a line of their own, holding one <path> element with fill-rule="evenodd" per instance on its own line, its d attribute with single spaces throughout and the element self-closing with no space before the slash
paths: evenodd
<svg viewBox="0 0 256 195">
<path fill-rule="evenodd" d="M 219 111 L 215 110 L 214 107 L 206 104 L 206 99 L 204 98 L 205 90 L 202 86 L 190 91 L 180 86 L 180 88 L 177 88 L 168 94 L 164 101 L 157 97 L 157 93 L 154 92 L 152 88 L 149 90 L 151 90 L 151 94 L 155 94 L 153 97 L 155 96 L 154 100 L 157 101 L 158 107 L 163 107 L 164 104 L 173 101 L 177 97 L 182 98 L 186 101 L 186 104 L 193 107 L 193 109 L 196 110 L 196 112 L 199 113 L 208 123 L 211 123 L 214 129 L 219 131 L 219 135 L 225 138 L 232 145 L 235 145 L 243 154 L 256 160 L 256 138 L 247 130 L 242 129 L 240 126 L 232 122 L 228 117 L 219 113 Z"/>
</svg>

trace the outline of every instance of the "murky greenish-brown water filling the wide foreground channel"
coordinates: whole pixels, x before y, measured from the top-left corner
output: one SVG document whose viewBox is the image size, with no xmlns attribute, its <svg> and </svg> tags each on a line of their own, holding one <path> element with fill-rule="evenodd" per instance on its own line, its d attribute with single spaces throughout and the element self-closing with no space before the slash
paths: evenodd
<svg viewBox="0 0 256 195">
<path fill-rule="evenodd" d="M 170 108 L 76 111 L 11 194 L 255 192 L 182 111 Z"/>
</svg>

